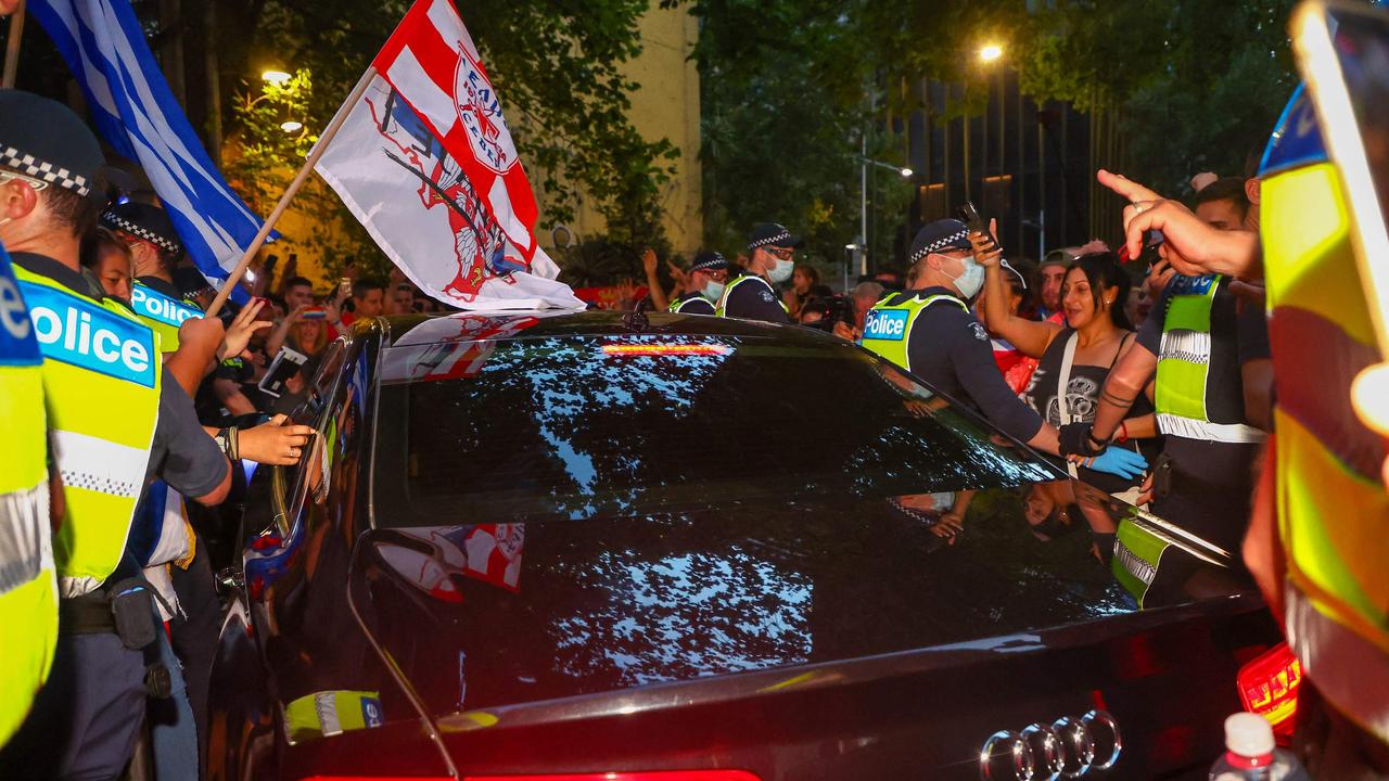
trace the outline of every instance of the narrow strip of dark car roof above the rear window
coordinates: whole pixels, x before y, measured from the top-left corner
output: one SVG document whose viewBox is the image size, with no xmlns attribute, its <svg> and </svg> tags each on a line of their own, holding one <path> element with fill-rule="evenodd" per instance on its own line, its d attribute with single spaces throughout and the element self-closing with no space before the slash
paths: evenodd
<svg viewBox="0 0 1389 781">
<path fill-rule="evenodd" d="M 763 322 L 697 314 L 646 313 L 644 324 L 629 324 L 631 313 L 589 310 L 458 311 L 408 314 L 358 321 L 358 335 L 379 334 L 383 346 L 446 343 L 499 338 L 546 336 L 772 336 L 782 342 L 825 345 L 836 338 L 790 324 Z M 406 339 L 406 336 L 410 336 Z"/>
</svg>

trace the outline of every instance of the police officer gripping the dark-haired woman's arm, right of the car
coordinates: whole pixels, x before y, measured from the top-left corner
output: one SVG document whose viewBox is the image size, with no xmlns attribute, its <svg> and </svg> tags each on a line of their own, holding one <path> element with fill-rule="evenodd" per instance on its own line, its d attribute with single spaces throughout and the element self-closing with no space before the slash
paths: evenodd
<svg viewBox="0 0 1389 781">
<path fill-rule="evenodd" d="M 1110 371 L 1093 424 L 1068 425 L 1061 443 L 1083 456 L 1106 452 L 1118 421 L 1156 374 L 1157 427 L 1165 436 L 1154 467 L 1153 511 L 1238 559 L 1254 461 L 1267 438 L 1250 411 L 1267 409 L 1267 385 L 1258 378 L 1267 375 L 1271 353 L 1263 307 L 1240 306 L 1232 281 L 1224 274 L 1172 277 L 1133 349 Z M 1125 585 L 1143 595 L 1145 606 L 1242 585 L 1178 546 L 1142 543 L 1125 529 L 1117 553 L 1132 564 Z"/>
</svg>

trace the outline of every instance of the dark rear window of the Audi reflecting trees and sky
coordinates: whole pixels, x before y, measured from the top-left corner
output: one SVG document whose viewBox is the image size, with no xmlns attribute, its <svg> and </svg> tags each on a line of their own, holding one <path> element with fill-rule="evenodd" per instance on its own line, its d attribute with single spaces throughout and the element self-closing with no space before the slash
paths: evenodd
<svg viewBox="0 0 1389 781">
<path fill-rule="evenodd" d="M 1058 475 L 850 345 L 553 336 L 382 359 L 378 527 L 861 500 Z"/>
</svg>

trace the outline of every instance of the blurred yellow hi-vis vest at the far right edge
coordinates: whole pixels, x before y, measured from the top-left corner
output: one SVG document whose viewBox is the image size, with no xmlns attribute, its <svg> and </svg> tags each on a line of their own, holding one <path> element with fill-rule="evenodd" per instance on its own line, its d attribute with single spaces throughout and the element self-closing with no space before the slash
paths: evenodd
<svg viewBox="0 0 1389 781">
<path fill-rule="evenodd" d="M 1385 443 L 1350 406 L 1351 381 L 1383 356 L 1351 214 L 1331 163 L 1267 175 L 1261 195 L 1288 642 L 1336 710 L 1389 742 Z"/>
</svg>

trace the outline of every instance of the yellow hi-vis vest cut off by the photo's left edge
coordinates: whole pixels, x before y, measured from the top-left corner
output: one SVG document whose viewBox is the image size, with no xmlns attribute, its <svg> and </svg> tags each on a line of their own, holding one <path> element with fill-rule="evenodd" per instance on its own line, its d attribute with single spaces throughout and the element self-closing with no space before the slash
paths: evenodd
<svg viewBox="0 0 1389 781">
<path fill-rule="evenodd" d="M 0 249 L 0 746 L 24 723 L 49 678 L 58 638 L 58 591 L 49 534 L 49 445 L 43 354 L 10 257 Z"/>
</svg>

